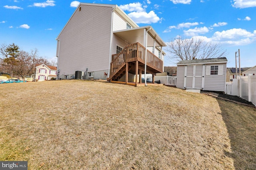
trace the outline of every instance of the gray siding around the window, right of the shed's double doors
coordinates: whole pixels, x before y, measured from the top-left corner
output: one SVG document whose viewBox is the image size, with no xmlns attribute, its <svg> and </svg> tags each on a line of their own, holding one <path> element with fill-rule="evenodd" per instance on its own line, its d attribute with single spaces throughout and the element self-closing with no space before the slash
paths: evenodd
<svg viewBox="0 0 256 170">
<path fill-rule="evenodd" d="M 207 65 L 223 65 L 223 75 L 206 75 L 205 70 L 204 90 L 224 92 L 226 86 L 226 64 L 206 64 L 206 66 Z"/>
</svg>

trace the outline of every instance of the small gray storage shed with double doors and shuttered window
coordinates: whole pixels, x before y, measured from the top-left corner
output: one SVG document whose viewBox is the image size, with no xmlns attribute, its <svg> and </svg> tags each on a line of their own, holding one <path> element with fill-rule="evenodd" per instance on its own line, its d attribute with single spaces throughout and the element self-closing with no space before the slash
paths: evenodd
<svg viewBox="0 0 256 170">
<path fill-rule="evenodd" d="M 225 92 L 227 62 L 226 57 L 180 61 L 176 87 Z"/>
</svg>

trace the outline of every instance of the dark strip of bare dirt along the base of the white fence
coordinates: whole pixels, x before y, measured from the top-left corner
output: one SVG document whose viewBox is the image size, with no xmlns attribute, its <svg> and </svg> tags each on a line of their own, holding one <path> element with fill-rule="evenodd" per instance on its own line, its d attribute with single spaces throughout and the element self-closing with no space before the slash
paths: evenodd
<svg viewBox="0 0 256 170">
<path fill-rule="evenodd" d="M 224 93 L 221 93 L 221 92 L 210 92 L 210 91 L 201 91 L 201 93 L 206 93 L 206 94 L 210 94 L 210 95 L 213 95 L 213 96 L 217 96 L 219 98 L 224 98 L 224 99 L 232 100 L 234 102 L 239 102 L 239 103 L 254 106 L 254 104 L 252 104 L 252 102 L 249 102 L 248 100 L 240 98 L 239 96 L 232 96 L 232 95 L 224 94 Z"/>
</svg>

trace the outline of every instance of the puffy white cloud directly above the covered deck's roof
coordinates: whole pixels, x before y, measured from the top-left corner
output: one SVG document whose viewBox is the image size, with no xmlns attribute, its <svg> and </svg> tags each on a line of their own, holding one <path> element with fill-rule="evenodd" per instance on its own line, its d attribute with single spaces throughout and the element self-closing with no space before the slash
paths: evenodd
<svg viewBox="0 0 256 170">
<path fill-rule="evenodd" d="M 155 14 L 154 11 L 146 12 L 131 12 L 128 14 L 136 23 L 157 23 L 161 19 Z"/>
</svg>

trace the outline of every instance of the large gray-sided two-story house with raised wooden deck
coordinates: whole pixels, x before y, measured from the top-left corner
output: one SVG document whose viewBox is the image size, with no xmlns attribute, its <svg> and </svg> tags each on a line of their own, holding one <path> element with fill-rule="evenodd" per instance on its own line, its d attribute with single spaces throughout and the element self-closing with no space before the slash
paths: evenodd
<svg viewBox="0 0 256 170">
<path fill-rule="evenodd" d="M 144 74 L 145 47 L 146 73 L 163 72 L 164 41 L 117 5 L 80 3 L 56 40 L 58 79 L 78 77 L 80 71 L 82 79 L 137 82 L 135 74 Z"/>
</svg>

